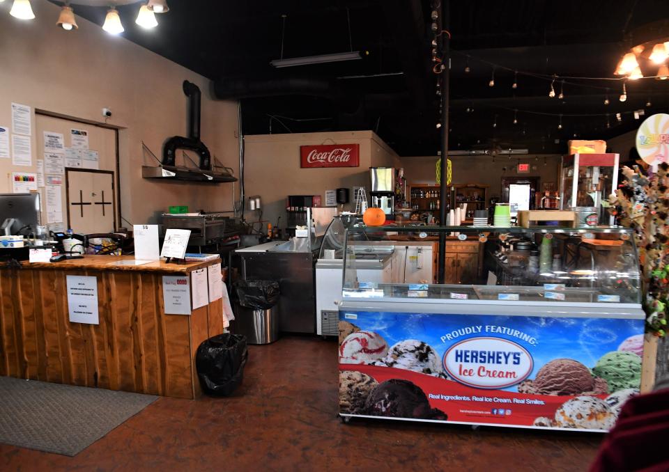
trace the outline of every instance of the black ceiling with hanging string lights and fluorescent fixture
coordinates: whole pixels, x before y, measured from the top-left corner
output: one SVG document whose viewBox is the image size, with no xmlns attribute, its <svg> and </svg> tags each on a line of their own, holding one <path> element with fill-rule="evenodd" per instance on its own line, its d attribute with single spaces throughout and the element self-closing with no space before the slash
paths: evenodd
<svg viewBox="0 0 669 472">
<path fill-rule="evenodd" d="M 247 91 L 242 101 L 245 134 L 374 129 L 400 155 L 434 155 L 439 149 L 430 1 L 169 0 L 169 7 L 157 15 L 160 26 L 153 31 L 134 24 L 137 4 L 119 7 L 123 36 L 222 81 L 230 93 L 254 84 L 256 91 Z M 620 82 L 567 79 L 564 100 L 558 100 L 548 97 L 550 81 L 544 78 L 519 74 L 513 89 L 512 70 L 613 77 L 624 31 L 669 18 L 669 1 L 452 0 L 449 12 L 450 149 L 494 145 L 564 152 L 574 136 L 607 139 L 634 129 L 634 110 L 668 110 L 669 81 L 629 82 L 629 100 L 621 103 Z M 75 6 L 75 13 L 98 24 L 105 17 L 104 8 Z M 352 47 L 362 60 L 272 68 L 282 49 L 282 15 L 284 58 Z M 495 86 L 489 87 L 493 64 L 503 67 L 495 68 Z M 306 87 L 284 87 L 287 79 Z M 558 80 L 558 93 L 560 85 Z M 271 96 L 258 97 L 258 88 L 272 90 Z M 619 112 L 622 123 L 615 118 Z M 599 116 L 570 116 L 582 114 Z"/>
</svg>

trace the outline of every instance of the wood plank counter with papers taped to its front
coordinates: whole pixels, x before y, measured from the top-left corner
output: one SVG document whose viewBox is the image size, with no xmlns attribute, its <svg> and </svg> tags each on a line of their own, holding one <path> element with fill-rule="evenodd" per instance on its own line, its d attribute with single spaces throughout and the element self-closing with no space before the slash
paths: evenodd
<svg viewBox="0 0 669 472">
<path fill-rule="evenodd" d="M 166 315 L 163 276 L 190 276 L 220 260 L 110 265 L 132 256 L 86 255 L 0 267 L 0 375 L 196 398 L 195 353 L 223 332 L 222 300 Z M 98 278 L 100 324 L 69 320 L 66 276 Z"/>
</svg>

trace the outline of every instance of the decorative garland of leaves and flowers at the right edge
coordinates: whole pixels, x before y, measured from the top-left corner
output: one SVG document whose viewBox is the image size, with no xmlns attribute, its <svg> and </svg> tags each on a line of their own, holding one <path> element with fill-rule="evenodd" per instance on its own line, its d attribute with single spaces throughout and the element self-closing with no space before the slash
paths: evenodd
<svg viewBox="0 0 669 472">
<path fill-rule="evenodd" d="M 609 201 L 623 226 L 634 230 L 639 249 L 646 324 L 663 337 L 669 304 L 669 165 L 647 175 L 638 166 L 623 167 L 626 180 Z"/>
</svg>

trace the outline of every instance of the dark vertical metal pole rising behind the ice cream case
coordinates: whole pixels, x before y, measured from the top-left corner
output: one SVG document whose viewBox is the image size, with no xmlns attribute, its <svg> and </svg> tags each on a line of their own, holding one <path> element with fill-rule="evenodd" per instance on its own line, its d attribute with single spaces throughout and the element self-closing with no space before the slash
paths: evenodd
<svg viewBox="0 0 669 472">
<path fill-rule="evenodd" d="M 439 15 L 439 31 L 445 31 L 449 28 L 449 0 L 441 0 L 441 12 Z M 451 69 L 451 55 L 449 51 L 449 33 L 442 32 L 438 36 L 438 47 L 441 50 L 442 64 L 444 70 L 440 74 L 441 78 L 441 181 L 439 189 L 439 224 L 446 226 L 446 215 L 448 214 L 447 202 L 449 198 L 449 187 L 447 185 L 448 171 L 448 87 L 449 74 Z M 444 283 L 446 269 L 446 233 L 439 233 L 439 270 L 438 281 Z"/>
</svg>

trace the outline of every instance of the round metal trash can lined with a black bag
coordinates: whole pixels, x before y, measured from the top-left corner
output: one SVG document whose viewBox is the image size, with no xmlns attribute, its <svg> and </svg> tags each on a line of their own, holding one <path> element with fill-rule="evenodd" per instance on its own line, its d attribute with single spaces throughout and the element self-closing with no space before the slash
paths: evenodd
<svg viewBox="0 0 669 472">
<path fill-rule="evenodd" d="M 270 344 L 279 339 L 279 282 L 247 280 L 235 285 L 236 332 L 248 344 Z"/>
</svg>

